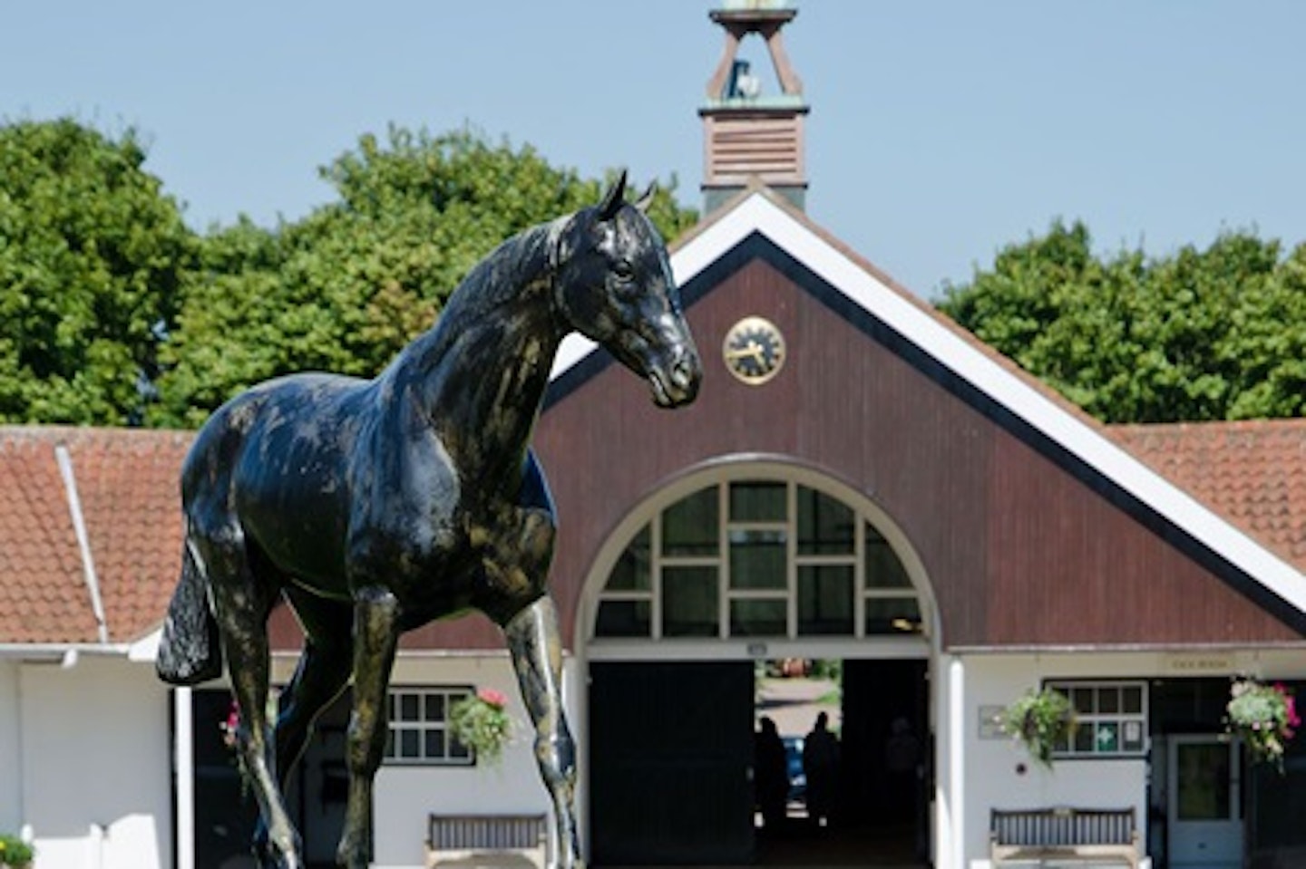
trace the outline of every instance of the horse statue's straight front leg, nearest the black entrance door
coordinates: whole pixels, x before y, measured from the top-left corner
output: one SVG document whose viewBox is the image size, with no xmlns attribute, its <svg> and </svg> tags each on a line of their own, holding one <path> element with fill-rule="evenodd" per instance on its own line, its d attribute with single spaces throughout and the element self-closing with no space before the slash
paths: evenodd
<svg viewBox="0 0 1306 869">
<path fill-rule="evenodd" d="M 521 697 L 535 725 L 535 761 L 554 801 L 550 869 L 581 869 L 576 832 L 576 746 L 563 711 L 558 611 L 545 595 L 504 625 Z"/>
</svg>

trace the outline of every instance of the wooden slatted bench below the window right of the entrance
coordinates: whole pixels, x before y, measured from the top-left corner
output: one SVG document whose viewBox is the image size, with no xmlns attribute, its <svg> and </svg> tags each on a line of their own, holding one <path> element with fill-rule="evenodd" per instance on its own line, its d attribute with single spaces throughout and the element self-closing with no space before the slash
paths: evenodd
<svg viewBox="0 0 1306 869">
<path fill-rule="evenodd" d="M 1012 862 L 1117 862 L 1138 869 L 1141 859 L 1134 809 L 994 809 L 989 860 Z"/>
</svg>

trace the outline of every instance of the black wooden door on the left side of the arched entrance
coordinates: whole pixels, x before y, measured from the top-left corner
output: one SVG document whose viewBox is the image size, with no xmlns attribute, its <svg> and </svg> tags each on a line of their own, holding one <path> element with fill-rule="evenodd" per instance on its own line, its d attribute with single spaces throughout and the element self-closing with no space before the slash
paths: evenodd
<svg viewBox="0 0 1306 869">
<path fill-rule="evenodd" d="M 592 862 L 747 864 L 752 664 L 590 665 Z"/>
</svg>

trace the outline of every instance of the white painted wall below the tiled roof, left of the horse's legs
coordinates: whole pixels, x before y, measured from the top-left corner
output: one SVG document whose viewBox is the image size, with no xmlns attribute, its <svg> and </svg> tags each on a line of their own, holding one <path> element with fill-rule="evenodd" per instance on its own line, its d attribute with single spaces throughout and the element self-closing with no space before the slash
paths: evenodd
<svg viewBox="0 0 1306 869">
<path fill-rule="evenodd" d="M 168 693 L 150 664 L 20 665 L 22 822 L 40 869 L 171 866 Z"/>
</svg>

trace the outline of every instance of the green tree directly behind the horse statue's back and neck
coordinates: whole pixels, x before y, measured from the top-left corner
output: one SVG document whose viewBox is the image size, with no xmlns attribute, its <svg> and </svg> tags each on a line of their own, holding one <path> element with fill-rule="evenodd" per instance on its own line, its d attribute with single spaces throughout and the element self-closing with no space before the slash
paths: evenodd
<svg viewBox="0 0 1306 869">
<path fill-rule="evenodd" d="M 277 374 L 370 377 L 428 329 L 458 281 L 495 245 L 593 205 L 597 179 L 550 166 L 530 146 L 470 130 L 392 127 L 324 167 L 337 201 L 261 231 L 248 222 L 204 240 L 180 329 L 165 347 L 154 420 L 193 425 Z M 667 239 L 695 223 L 660 188 L 650 217 Z"/>
</svg>

